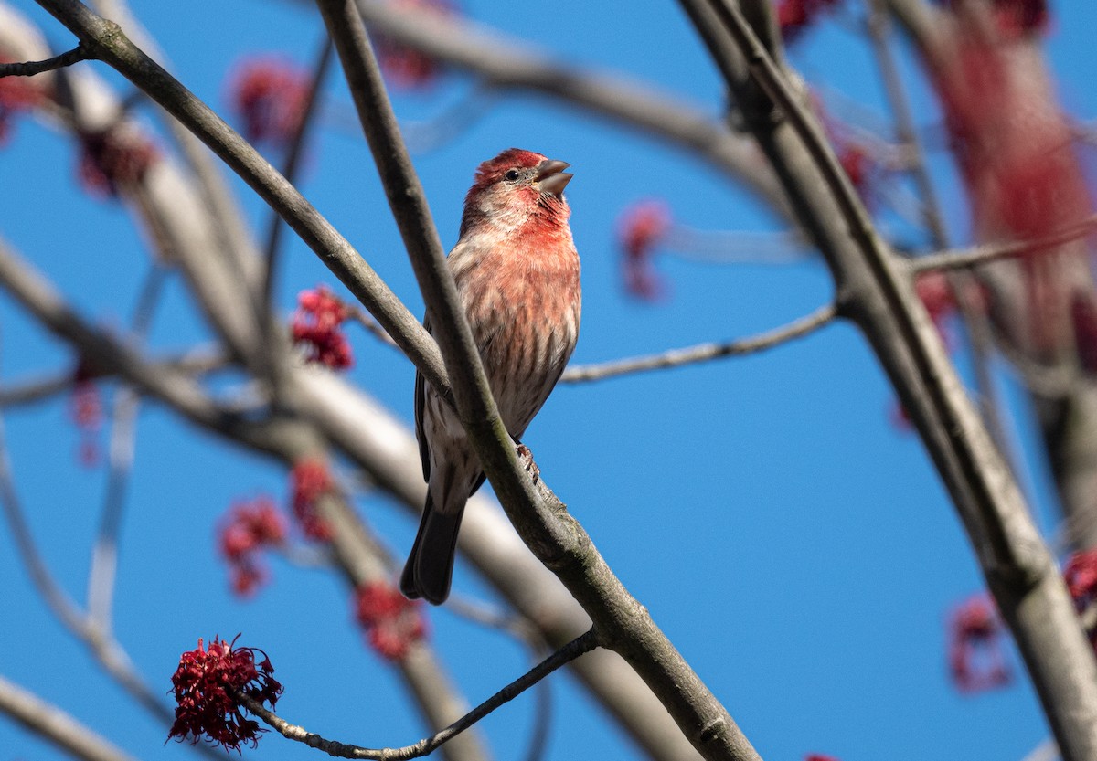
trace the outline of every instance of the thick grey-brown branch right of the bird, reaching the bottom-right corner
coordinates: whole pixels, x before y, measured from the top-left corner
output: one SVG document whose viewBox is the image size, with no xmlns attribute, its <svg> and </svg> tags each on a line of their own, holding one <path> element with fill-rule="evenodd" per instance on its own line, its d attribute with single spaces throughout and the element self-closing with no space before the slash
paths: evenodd
<svg viewBox="0 0 1097 761">
<path fill-rule="evenodd" d="M 1017 484 L 818 125 L 793 96 L 737 4 L 711 2 L 751 79 L 785 117 L 774 124 L 771 114 L 747 114 L 832 269 L 844 314 L 872 344 L 952 497 L 1064 759 L 1097 758 L 1097 663 Z M 742 84 L 730 82 L 733 89 Z"/>
</svg>

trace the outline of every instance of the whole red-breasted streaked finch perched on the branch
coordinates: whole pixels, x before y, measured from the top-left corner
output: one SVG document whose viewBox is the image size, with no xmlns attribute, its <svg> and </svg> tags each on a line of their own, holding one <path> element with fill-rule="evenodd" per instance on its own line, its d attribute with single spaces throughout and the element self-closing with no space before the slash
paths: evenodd
<svg viewBox="0 0 1097 761">
<path fill-rule="evenodd" d="M 567 225 L 567 167 L 517 148 L 482 163 L 449 258 L 491 394 L 516 442 L 579 336 L 579 255 Z M 428 331 L 430 323 L 428 311 Z M 421 374 L 415 380 L 415 422 L 427 504 L 400 590 L 437 605 L 450 594 L 461 514 L 484 472 L 461 422 Z"/>
</svg>

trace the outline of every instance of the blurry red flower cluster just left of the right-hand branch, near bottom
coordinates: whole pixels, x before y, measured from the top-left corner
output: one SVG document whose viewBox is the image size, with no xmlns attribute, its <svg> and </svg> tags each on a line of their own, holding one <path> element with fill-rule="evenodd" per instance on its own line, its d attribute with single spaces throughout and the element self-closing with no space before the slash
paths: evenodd
<svg viewBox="0 0 1097 761">
<path fill-rule="evenodd" d="M 1009 684 L 1002 638 L 1005 633 L 994 603 L 985 594 L 963 602 L 949 618 L 949 672 L 962 692 Z"/>
</svg>

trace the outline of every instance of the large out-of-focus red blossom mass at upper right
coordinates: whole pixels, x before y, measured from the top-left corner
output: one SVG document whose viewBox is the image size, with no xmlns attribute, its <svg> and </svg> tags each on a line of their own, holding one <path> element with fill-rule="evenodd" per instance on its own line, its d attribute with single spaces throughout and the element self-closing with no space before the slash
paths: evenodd
<svg viewBox="0 0 1097 761">
<path fill-rule="evenodd" d="M 1044 23 L 1041 2 L 999 0 L 1034 29 Z M 1053 89 L 1030 56 L 1016 55 L 1008 34 L 987 35 L 979 14 L 955 14 L 950 65 L 934 70 L 946 126 L 981 240 L 1042 238 L 1090 214 L 1089 191 L 1073 148 L 1071 124 Z M 991 38 L 988 38 L 988 36 Z M 1021 259 L 1028 319 L 1027 351 L 1066 350 L 1070 279 L 1062 259 L 1037 249 Z"/>
</svg>

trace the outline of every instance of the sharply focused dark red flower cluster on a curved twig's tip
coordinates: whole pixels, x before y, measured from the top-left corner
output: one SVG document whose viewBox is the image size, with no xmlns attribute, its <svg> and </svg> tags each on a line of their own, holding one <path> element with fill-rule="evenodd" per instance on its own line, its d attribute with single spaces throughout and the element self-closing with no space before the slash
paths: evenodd
<svg viewBox="0 0 1097 761">
<path fill-rule="evenodd" d="M 197 649 L 184 652 L 171 677 L 176 722 L 168 739 L 174 737 L 182 742 L 190 738 L 191 745 L 206 739 L 236 751 L 245 745 L 255 748 L 259 734 L 267 730 L 244 716 L 228 691 L 242 692 L 272 708 L 278 703 L 282 685 L 271 675 L 274 667 L 265 652 L 257 667 L 257 652 L 262 650 L 237 648 L 236 639 L 227 644 L 216 637 L 208 649 L 199 639 Z"/>
</svg>

